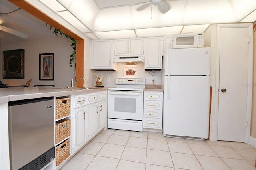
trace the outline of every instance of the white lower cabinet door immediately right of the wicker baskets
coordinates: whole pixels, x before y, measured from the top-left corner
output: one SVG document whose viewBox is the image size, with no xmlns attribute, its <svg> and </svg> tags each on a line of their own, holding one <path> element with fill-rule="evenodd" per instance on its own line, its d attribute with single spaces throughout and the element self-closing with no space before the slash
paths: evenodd
<svg viewBox="0 0 256 170">
<path fill-rule="evenodd" d="M 85 113 L 85 107 L 75 109 L 74 151 L 85 142 Z"/>
</svg>

